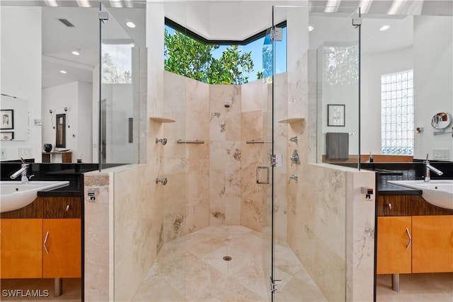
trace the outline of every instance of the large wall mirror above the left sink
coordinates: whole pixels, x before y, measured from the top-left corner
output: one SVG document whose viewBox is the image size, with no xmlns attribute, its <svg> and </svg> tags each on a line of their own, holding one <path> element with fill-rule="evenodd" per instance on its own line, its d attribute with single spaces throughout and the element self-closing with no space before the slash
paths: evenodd
<svg viewBox="0 0 453 302">
<path fill-rule="evenodd" d="M 14 129 L 1 129 L 6 139 L 28 141 L 25 143 L 6 143 L 8 148 L 5 160 L 17 159 L 18 148 L 30 148 L 30 158 L 40 161 L 44 144 L 52 144 L 55 148 L 70 149 L 74 159 L 83 154 L 84 163 L 98 162 L 98 89 L 99 89 L 99 18 L 98 2 L 91 7 L 80 7 L 79 1 L 64 1 L 64 6 L 47 6 L 45 1 L 1 1 L 1 93 L 17 96 L 27 100 L 19 101 L 26 110 L 18 110 L 6 105 L 4 96 L 1 109 L 13 110 Z M 110 137 L 107 152 L 108 163 L 138 162 L 139 137 L 146 132 L 146 94 L 139 89 L 146 87 L 138 68 L 146 69 L 147 64 L 140 64 L 139 55 L 146 59 L 145 46 L 145 9 L 144 4 L 133 5 L 132 8 L 109 8 L 109 19 L 103 26 L 103 45 L 127 44 L 134 51 L 123 53 L 110 51 L 105 59 L 108 66 L 102 70 L 117 71 L 122 60 L 127 59 L 128 69 L 119 69 L 118 77 L 130 74 L 130 83 L 108 83 L 103 86 L 111 88 L 108 100 L 118 100 L 121 108 L 109 107 L 115 115 L 111 115 Z M 23 20 L 27 22 L 24 23 Z M 133 22 L 135 28 L 126 26 L 126 21 Z M 106 31 L 110 27 L 113 30 Z M 105 55 L 106 57 L 107 55 Z M 24 69 L 26 66 L 26 69 Z M 115 80 L 114 78 L 113 80 Z M 102 82 L 103 83 L 103 82 Z M 126 87 L 127 86 L 127 87 Z M 123 91 L 127 90 L 127 94 Z M 119 91 L 119 92 L 118 92 Z M 139 99 L 139 100 L 138 100 Z M 117 103 L 115 103 L 116 105 Z M 125 104 L 130 104 L 126 109 Z M 67 108 L 67 110 L 66 110 Z M 28 115 L 30 112 L 30 117 Z M 51 112 L 51 113 L 49 113 Z M 61 141 L 62 132 L 57 134 L 57 115 L 66 115 L 66 140 Z M 9 112 L 5 112 L 9 117 Z M 5 117 L 5 118 L 6 118 Z M 129 143 L 127 123 L 134 119 L 134 143 Z M 140 124 L 139 124 L 140 121 Z M 19 126 L 26 123 L 21 132 Z M 70 125 L 70 127 L 69 127 Z M 109 125 L 109 124 L 108 124 Z M 29 127 L 29 128 L 28 128 Z M 121 135 L 117 134 L 120 129 Z M 125 130 L 126 129 L 126 130 Z M 142 132 L 139 132 L 139 129 Z M 126 132 L 122 135 L 122 132 Z M 59 139 L 56 140 L 56 137 Z M 61 143 L 61 144 L 59 144 Z M 64 147 L 60 147 L 64 145 Z M 146 144 L 145 144 L 146 145 Z M 128 147 L 125 151 L 125 147 Z M 146 148 L 140 148 L 140 151 Z M 130 156 L 133 154 L 133 156 Z M 127 156 L 127 157 L 126 157 Z M 144 161 L 146 153 L 142 156 Z"/>
</svg>

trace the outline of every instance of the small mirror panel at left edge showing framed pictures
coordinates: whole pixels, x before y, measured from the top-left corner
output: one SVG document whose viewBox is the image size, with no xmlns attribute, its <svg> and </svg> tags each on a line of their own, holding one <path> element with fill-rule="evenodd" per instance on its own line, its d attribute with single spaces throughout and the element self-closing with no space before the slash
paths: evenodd
<svg viewBox="0 0 453 302">
<path fill-rule="evenodd" d="M 1 137 L 28 141 L 28 100 L 1 95 Z"/>
</svg>

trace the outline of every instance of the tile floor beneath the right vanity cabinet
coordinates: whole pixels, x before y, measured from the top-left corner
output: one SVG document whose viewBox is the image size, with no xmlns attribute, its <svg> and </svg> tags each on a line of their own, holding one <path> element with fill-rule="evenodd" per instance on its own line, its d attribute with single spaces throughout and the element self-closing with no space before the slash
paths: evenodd
<svg viewBox="0 0 453 302">
<path fill-rule="evenodd" d="M 378 275 L 376 301 L 453 302 L 453 273 L 400 274 L 399 287 L 392 291 L 391 275 Z"/>
</svg>

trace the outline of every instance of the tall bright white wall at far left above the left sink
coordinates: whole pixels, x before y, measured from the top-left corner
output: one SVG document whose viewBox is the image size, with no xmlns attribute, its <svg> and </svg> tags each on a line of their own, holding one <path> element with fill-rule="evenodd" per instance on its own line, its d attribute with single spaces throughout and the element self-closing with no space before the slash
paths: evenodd
<svg viewBox="0 0 453 302">
<path fill-rule="evenodd" d="M 19 158 L 19 147 L 31 147 L 32 156 L 41 161 L 41 8 L 0 6 L 1 79 L 0 91 L 28 100 L 30 134 L 28 141 L 1 141 L 5 160 Z M 24 22 L 26 21 L 26 22 Z M 3 159 L 2 159 L 3 160 Z"/>
</svg>

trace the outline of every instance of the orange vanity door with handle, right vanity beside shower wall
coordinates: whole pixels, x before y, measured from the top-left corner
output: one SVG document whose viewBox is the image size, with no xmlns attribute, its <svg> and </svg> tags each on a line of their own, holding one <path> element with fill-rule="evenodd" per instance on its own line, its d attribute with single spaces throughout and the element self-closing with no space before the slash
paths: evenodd
<svg viewBox="0 0 453 302">
<path fill-rule="evenodd" d="M 411 216 L 377 218 L 377 274 L 411 273 Z"/>
</svg>

